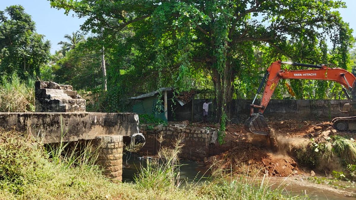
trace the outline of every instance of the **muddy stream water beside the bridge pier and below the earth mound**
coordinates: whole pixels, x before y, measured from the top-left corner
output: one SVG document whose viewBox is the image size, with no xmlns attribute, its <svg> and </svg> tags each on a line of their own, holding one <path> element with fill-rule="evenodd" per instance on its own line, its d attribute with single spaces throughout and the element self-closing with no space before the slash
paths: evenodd
<svg viewBox="0 0 356 200">
<path fill-rule="evenodd" d="M 134 175 L 138 173 L 140 166 L 146 166 L 146 159 L 140 160 L 138 157 L 131 156 L 130 160 L 126 163 L 126 157 L 124 157 L 122 169 L 122 181 L 123 182 L 135 182 Z M 203 164 L 182 160 L 182 166 L 180 167 L 180 181 L 184 185 L 185 180 L 188 182 L 198 182 L 205 181 L 206 177 L 209 177 L 209 173 Z M 204 174 L 205 173 L 205 174 Z M 203 178 L 202 178 L 203 177 Z M 204 178 L 205 177 L 205 178 Z M 297 175 L 294 177 L 282 178 L 282 177 L 271 177 L 267 178 L 268 185 L 271 185 L 273 189 L 279 188 L 283 189 L 285 194 L 295 195 L 305 195 L 307 194 L 310 199 L 320 199 L 320 200 L 351 200 L 356 199 L 356 186 L 344 181 L 339 181 L 338 185 L 350 186 L 346 189 L 337 189 L 334 186 L 315 184 L 308 180 L 305 180 L 306 176 Z M 354 196 L 354 197 L 352 197 Z"/>
</svg>

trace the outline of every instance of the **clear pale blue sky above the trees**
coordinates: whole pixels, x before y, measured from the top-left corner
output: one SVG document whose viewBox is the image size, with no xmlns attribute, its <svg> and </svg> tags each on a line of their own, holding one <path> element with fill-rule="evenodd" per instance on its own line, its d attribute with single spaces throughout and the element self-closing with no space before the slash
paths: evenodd
<svg viewBox="0 0 356 200">
<path fill-rule="evenodd" d="M 344 0 L 344 2 L 346 2 L 347 8 L 339 11 L 344 21 L 350 23 L 355 37 L 356 0 Z M 4 10 L 10 5 L 22 5 L 25 12 L 32 16 L 32 20 L 36 22 L 37 33 L 45 35 L 45 38 L 51 41 L 52 54 L 60 49 L 57 43 L 64 40 L 63 36 L 78 31 L 79 26 L 85 21 L 83 18 L 72 17 L 72 14 L 64 15 L 64 10 L 51 8 L 47 0 L 0 0 L 0 10 Z"/>
</svg>

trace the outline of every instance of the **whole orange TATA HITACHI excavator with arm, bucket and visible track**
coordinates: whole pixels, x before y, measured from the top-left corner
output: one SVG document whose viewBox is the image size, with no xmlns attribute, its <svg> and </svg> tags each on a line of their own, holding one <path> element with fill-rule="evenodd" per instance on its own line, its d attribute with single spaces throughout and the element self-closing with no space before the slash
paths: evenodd
<svg viewBox="0 0 356 200">
<path fill-rule="evenodd" d="M 282 64 L 290 64 L 293 66 L 316 68 L 305 70 L 287 70 L 281 69 Z M 330 66 L 330 67 L 329 67 Z M 341 112 L 349 112 L 352 114 L 356 111 L 356 78 L 349 71 L 341 68 L 336 68 L 333 64 L 303 64 L 294 62 L 276 61 L 269 66 L 265 76 L 258 87 L 255 99 L 251 106 L 250 117 L 245 122 L 245 130 L 251 133 L 270 136 L 271 131 L 267 125 L 263 112 L 266 110 L 269 100 L 276 89 L 279 80 L 281 79 L 308 79 L 308 80 L 331 80 L 340 83 L 346 98 L 349 103 L 342 107 Z M 265 91 L 263 91 L 261 104 L 254 104 L 258 93 L 260 93 L 263 84 L 266 82 Z M 341 93 L 340 93 L 341 95 Z M 351 95 L 351 97 L 350 97 Z M 258 112 L 254 113 L 254 108 L 258 108 Z M 337 117 L 332 121 L 333 127 L 341 132 L 356 132 L 356 116 L 352 117 Z"/>
</svg>

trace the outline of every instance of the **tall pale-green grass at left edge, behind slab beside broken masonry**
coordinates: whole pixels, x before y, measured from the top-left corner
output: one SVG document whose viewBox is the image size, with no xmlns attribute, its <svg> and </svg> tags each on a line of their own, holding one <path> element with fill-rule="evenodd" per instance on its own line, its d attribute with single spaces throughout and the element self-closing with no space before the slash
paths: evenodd
<svg viewBox="0 0 356 200">
<path fill-rule="evenodd" d="M 16 74 L 0 81 L 0 112 L 35 111 L 35 80 L 21 80 Z"/>
</svg>

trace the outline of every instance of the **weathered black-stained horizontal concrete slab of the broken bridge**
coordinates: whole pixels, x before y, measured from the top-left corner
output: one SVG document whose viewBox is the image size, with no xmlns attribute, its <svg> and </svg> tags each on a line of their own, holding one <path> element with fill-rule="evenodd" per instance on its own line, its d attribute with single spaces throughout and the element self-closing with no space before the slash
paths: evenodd
<svg viewBox="0 0 356 200">
<path fill-rule="evenodd" d="M 27 132 L 43 143 L 91 140 L 98 135 L 138 133 L 135 113 L 0 112 L 0 129 Z"/>
</svg>

